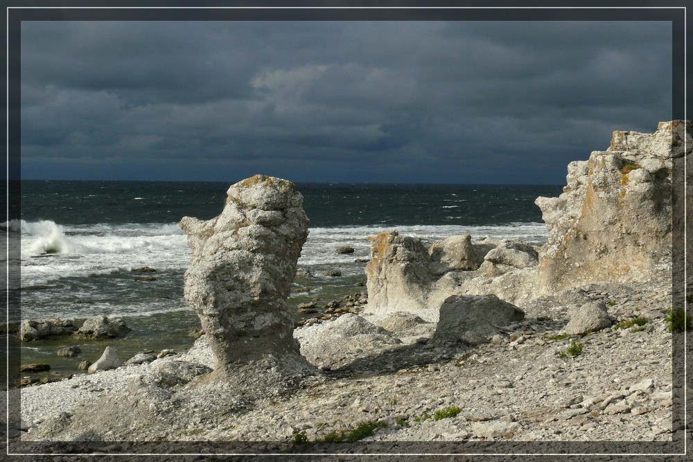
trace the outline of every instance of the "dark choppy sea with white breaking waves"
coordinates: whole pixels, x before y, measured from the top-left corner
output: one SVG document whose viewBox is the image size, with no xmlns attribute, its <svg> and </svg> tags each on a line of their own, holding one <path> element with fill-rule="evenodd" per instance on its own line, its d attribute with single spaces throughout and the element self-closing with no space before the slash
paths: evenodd
<svg viewBox="0 0 693 462">
<path fill-rule="evenodd" d="M 22 181 L 21 218 L 1 224 L 10 240 L 10 289 L 21 297 L 21 319 L 75 319 L 106 314 L 132 328 L 116 341 L 41 341 L 21 346 L 21 362 L 47 362 L 51 373 L 78 373 L 82 359 L 94 362 L 111 345 L 125 361 L 142 350 L 181 350 L 193 342 L 188 330 L 200 322 L 183 299 L 190 250 L 177 223 L 222 211 L 230 184 L 165 181 Z M 333 299 L 364 290 L 368 236 L 396 229 L 425 242 L 471 234 L 546 242 L 538 196 L 554 197 L 561 186 L 297 184 L 310 219 L 299 268 L 313 276 L 295 283 L 288 299 L 299 303 Z M 17 245 L 21 242 L 21 245 Z M 351 245 L 353 254 L 336 254 Z M 133 269 L 156 269 L 141 281 Z M 326 276 L 331 269 L 342 273 Z M 306 289 L 308 290 L 306 292 Z M 11 313 L 17 320 L 17 314 Z M 297 317 L 298 319 L 298 317 Z M 63 346 L 82 354 L 57 357 Z"/>
</svg>

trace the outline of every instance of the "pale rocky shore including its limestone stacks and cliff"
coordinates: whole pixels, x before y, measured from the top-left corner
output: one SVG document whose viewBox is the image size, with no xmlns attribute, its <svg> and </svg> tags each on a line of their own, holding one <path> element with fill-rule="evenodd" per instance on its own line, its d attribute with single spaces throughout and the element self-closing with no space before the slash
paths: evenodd
<svg viewBox="0 0 693 462">
<path fill-rule="evenodd" d="M 564 193 L 537 199 L 550 231 L 541 249 L 374 236 L 367 302 L 355 296 L 298 326 L 285 300 L 306 238 L 301 197 L 288 181 L 244 180 L 219 217 L 182 221 L 193 248 L 186 300 L 205 335 L 180 355 L 10 390 L 10 403 L 21 400 L 10 437 L 44 449 L 236 441 L 310 453 L 358 441 L 391 454 L 412 442 L 463 452 L 572 442 L 675 453 L 689 436 L 690 322 L 689 297 L 672 287 L 683 270 L 672 259 L 672 169 L 691 132 L 681 121 L 615 132 L 608 150 L 571 163 Z"/>
</svg>

